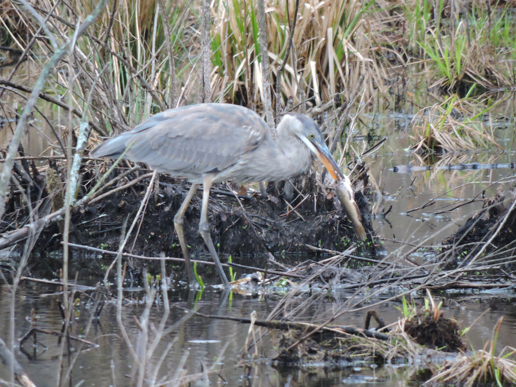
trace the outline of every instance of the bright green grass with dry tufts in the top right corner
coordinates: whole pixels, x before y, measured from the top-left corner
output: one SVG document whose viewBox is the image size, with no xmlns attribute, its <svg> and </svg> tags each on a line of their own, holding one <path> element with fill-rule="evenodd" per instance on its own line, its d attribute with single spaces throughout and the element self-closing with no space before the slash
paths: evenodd
<svg viewBox="0 0 516 387">
<path fill-rule="evenodd" d="M 409 52 L 423 58 L 432 87 L 464 95 L 513 85 L 516 55 L 512 6 L 471 2 L 405 1 Z"/>
</svg>

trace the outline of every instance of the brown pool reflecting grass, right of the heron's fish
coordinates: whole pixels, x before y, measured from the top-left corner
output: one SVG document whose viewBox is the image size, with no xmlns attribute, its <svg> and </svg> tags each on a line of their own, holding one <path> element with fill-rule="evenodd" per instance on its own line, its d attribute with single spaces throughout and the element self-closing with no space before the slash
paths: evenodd
<svg viewBox="0 0 516 387">
<path fill-rule="evenodd" d="M 410 152 L 411 133 L 400 125 L 407 122 L 405 117 L 379 121 L 389 135 L 378 151 L 363 159 L 383 193 L 379 213 L 392 206 L 388 215 L 374 219 L 388 252 L 399 243 L 440 244 L 482 208 L 482 197 L 489 199 L 516 183 L 513 130 L 496 132 L 505 151 L 445 154 L 429 161 Z"/>
</svg>

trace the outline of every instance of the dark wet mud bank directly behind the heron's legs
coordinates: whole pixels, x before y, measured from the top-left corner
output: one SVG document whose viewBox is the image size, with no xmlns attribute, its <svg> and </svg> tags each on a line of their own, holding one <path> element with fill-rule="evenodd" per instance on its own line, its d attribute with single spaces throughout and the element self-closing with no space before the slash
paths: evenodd
<svg viewBox="0 0 516 387">
<path fill-rule="evenodd" d="M 90 177 L 90 176 L 87 176 Z M 132 180 L 131 176 L 128 176 Z M 93 176 L 91 176 L 93 178 Z M 93 182 L 95 179 L 89 180 Z M 208 221 L 214 245 L 223 261 L 227 256 L 242 257 L 271 252 L 281 261 L 285 254 L 308 253 L 314 259 L 323 255 L 324 249 L 342 251 L 356 236 L 336 195 L 313 193 L 317 191 L 314 179 L 299 182 L 294 196 L 288 200 L 281 187 L 269 187 L 267 197 L 235 195 L 225 186 L 212 189 Z M 94 204 L 80 208 L 71 217 L 70 242 L 78 245 L 117 250 L 125 228 L 133 222 L 148 182 L 142 180 L 127 189 L 115 191 Z M 85 186 L 87 191 L 88 186 Z M 153 187 L 143 216 L 137 221 L 126 251 L 137 255 L 182 257 L 179 240 L 174 231 L 174 216 L 184 200 L 188 187 L 168 176 L 160 176 Z M 299 189 L 299 191 L 297 191 Z M 43 200 L 51 206 L 58 195 L 44 192 Z M 361 192 L 356 193 L 364 225 L 370 232 L 370 211 Z M 14 204 L 13 204 L 14 205 Z M 184 219 L 184 232 L 192 257 L 209 256 L 199 235 L 202 190 L 192 199 Z M 40 269 L 59 267 L 62 251 L 62 222 L 44 229 L 36 241 L 34 264 Z M 365 247 L 367 246 L 367 248 Z M 314 250 L 315 247 L 316 249 Z M 365 244 L 363 253 L 375 256 L 376 246 Z M 319 249 L 319 250 L 317 250 Z M 11 256 L 20 255 L 23 243 L 15 246 Z M 91 257 L 86 256 L 84 265 Z M 56 261 L 56 265 L 52 261 Z M 80 256 L 79 256 L 80 260 Z"/>
</svg>

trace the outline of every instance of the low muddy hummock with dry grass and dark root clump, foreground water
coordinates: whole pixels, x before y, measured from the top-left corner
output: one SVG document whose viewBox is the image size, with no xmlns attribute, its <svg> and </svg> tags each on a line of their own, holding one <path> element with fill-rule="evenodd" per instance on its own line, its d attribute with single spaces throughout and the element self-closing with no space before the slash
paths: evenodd
<svg viewBox="0 0 516 387">
<path fill-rule="evenodd" d="M 281 335 L 273 364 L 280 368 L 346 368 L 371 363 L 406 364 L 409 358 L 413 363 L 425 364 L 421 358 L 430 350 L 434 357 L 444 356 L 439 352 L 468 350 L 458 322 L 445 317 L 430 295 L 429 299 L 432 307 L 420 310 L 409 307 L 405 317 L 390 325 L 375 310 L 367 313 L 363 329 L 308 324 L 297 327 L 295 322 L 288 322 L 291 329 Z M 378 327 L 372 328 L 372 319 Z"/>
</svg>

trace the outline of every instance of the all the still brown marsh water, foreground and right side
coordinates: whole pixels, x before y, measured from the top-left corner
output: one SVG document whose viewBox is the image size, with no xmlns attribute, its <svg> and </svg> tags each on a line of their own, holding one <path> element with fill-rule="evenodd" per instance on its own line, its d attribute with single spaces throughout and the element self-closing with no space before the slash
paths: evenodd
<svg viewBox="0 0 516 387">
<path fill-rule="evenodd" d="M 452 155 L 449 160 L 439 158 L 433 162 L 423 161 L 414 156 L 409 148 L 410 132 L 406 125 L 393 117 L 384 117 L 381 125 L 390 133 L 383 146 L 373 155 L 364 156 L 370 167 L 370 174 L 383 191 L 383 212 L 392 206 L 385 216 L 374 219 L 374 227 L 383 239 L 385 251 L 395 259 L 396 251 L 406 244 L 425 240 L 425 245 L 437 245 L 443 237 L 453 234 L 474 211 L 482 205 L 472 201 L 485 191 L 485 197 L 492 196 L 502 184 L 509 187 L 514 182 L 511 163 L 516 160 L 512 135 L 501 130 L 499 139 L 507 149 L 497 153 L 470 153 Z M 360 139 L 355 141 L 357 149 L 366 148 Z M 502 183 L 499 183 L 502 182 Z M 471 202 L 457 206 L 454 211 L 444 211 L 450 205 Z M 428 205 L 430 203 L 430 205 Z M 424 207 L 424 208 L 423 208 Z M 421 208 L 421 209 L 418 209 Z M 382 212 L 381 210 L 379 211 Z M 202 267 L 200 268 L 202 270 Z M 79 282 L 94 285 L 99 279 L 82 278 Z M 129 298 L 143 298 L 141 290 L 135 289 Z M 305 310 L 307 320 L 313 315 L 318 319 L 330 316 L 338 310 L 351 294 L 328 295 L 326 302 L 317 304 L 314 310 Z M 416 298 L 417 295 L 414 295 Z M 89 327 L 93 306 L 84 295 L 77 294 L 80 301 L 73 311 L 72 334 L 85 338 L 98 347 L 72 351 L 75 359 L 71 385 L 108 386 L 126 385 L 133 372 L 134 362 L 131 353 L 121 337 L 116 319 L 116 305 L 106 304 L 98 321 Z M 196 308 L 198 311 L 217 316 L 249 317 L 255 311 L 258 319 L 265 319 L 275 308 L 281 295 L 243 296 L 232 293 L 223 297 L 220 291 L 208 288 L 201 295 L 192 295 L 185 289 L 169 292 L 172 305 L 183 308 Z M 385 296 L 387 297 L 387 296 Z M 0 288 L 0 336 L 8 336 L 9 327 L 9 286 Z M 31 309 L 37 315 L 36 326 L 42 329 L 60 331 L 62 319 L 58 300 L 62 298 L 57 286 L 39 285 L 23 281 L 15 295 L 15 337 L 22 337 L 29 329 L 28 316 Z M 302 298 L 302 297 L 301 297 Z M 516 347 L 516 309 L 514 293 L 465 291 L 443 293 L 443 311 L 455 317 L 463 328 L 471 330 L 466 341 L 475 348 L 482 348 L 492 338 L 492 331 L 499 317 L 504 317 L 497 336 L 497 348 Z M 381 301 L 364 298 L 363 305 Z M 181 309 L 172 308 L 165 322 L 171 327 L 185 315 Z M 401 312 L 400 301 L 388 301 L 375 307 L 381 317 L 396 321 Z M 135 317 L 141 316 L 144 305 L 140 302 L 128 303 L 122 311 L 122 321 L 128 337 L 136 345 L 139 329 Z M 358 312 L 346 313 L 335 321 L 337 325 L 362 327 L 367 308 Z M 151 308 L 151 326 L 159 325 L 163 316 L 163 305 Z M 204 384 L 221 385 L 224 381 L 231 386 L 283 386 L 289 385 L 420 385 L 424 376 L 417 374 L 417 368 L 405 364 L 378 366 L 365 363 L 338 369 L 328 369 L 322 365 L 302 368 L 277 368 L 271 359 L 277 355 L 280 333 L 269 333 L 260 347 L 257 359 L 240 364 L 243 348 L 248 339 L 249 327 L 233 321 L 209 319 L 192 316 L 183 324 L 169 332 L 159 341 L 154 356 L 149 363 L 147 375 L 150 379 L 173 379 L 175 376 L 199 374 Z M 152 334 L 150 335 L 152 337 Z M 58 337 L 38 334 L 38 343 L 25 342 L 16 345 L 15 355 L 29 376 L 39 386 L 55 385 L 59 374 L 59 353 L 61 342 Z M 75 344 L 73 345 L 75 347 Z M 169 347 L 167 347 L 169 346 Z M 160 358 L 163 355 L 163 358 Z M 71 358 L 65 356 L 65 365 Z M 160 366 L 156 366 L 159 362 Z M 4 370 L 5 371 L 5 370 Z M 6 373 L 0 374 L 6 378 Z"/>
</svg>

